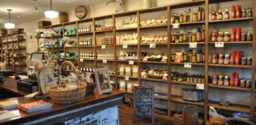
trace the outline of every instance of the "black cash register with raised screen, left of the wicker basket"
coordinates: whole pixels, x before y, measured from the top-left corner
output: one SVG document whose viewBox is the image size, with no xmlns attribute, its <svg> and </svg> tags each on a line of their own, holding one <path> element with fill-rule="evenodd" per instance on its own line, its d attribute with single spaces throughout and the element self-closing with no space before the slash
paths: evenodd
<svg viewBox="0 0 256 125">
<path fill-rule="evenodd" d="M 44 52 L 34 52 L 31 54 L 30 60 L 44 60 Z M 29 66 L 29 70 L 33 71 L 34 67 Z M 38 79 L 36 74 L 28 75 L 28 79 L 19 79 L 17 82 L 18 90 L 33 93 L 38 92 Z"/>
</svg>

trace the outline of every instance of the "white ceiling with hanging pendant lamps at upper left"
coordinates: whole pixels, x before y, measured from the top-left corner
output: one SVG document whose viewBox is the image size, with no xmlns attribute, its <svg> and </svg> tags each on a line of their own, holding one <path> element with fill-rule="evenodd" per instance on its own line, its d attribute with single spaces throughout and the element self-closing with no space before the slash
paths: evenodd
<svg viewBox="0 0 256 125">
<path fill-rule="evenodd" d="M 52 0 L 53 10 L 57 12 L 68 12 L 75 10 L 78 5 L 97 5 L 99 3 L 106 3 L 110 0 Z M 38 12 L 35 10 L 38 7 Z M 44 17 L 44 11 L 50 10 L 50 0 L 0 0 L 0 27 L 5 22 L 8 22 L 8 11 L 11 12 L 11 22 L 21 24 L 31 20 L 36 20 Z M 17 13 L 21 14 L 18 18 Z"/>
</svg>

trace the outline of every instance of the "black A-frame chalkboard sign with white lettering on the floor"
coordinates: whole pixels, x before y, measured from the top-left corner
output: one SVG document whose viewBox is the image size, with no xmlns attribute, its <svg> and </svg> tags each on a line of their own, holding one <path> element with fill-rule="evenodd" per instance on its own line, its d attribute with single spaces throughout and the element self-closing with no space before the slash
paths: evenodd
<svg viewBox="0 0 256 125">
<path fill-rule="evenodd" d="M 134 86 L 133 90 L 133 122 L 136 122 L 136 118 L 140 116 L 142 118 L 151 118 L 154 124 L 155 103 L 153 86 Z"/>
</svg>

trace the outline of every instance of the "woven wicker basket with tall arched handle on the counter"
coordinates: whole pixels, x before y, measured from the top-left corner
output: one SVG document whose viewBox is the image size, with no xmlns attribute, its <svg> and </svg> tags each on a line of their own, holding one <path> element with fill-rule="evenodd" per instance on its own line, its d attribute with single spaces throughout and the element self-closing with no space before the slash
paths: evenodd
<svg viewBox="0 0 256 125">
<path fill-rule="evenodd" d="M 60 84 L 60 73 L 62 70 L 62 67 L 64 64 L 69 63 L 73 69 L 75 69 L 75 65 L 71 63 L 71 61 L 64 61 L 62 65 L 60 66 L 60 71 L 59 71 L 59 84 Z M 49 88 L 49 95 L 51 96 L 51 99 L 53 99 L 54 103 L 74 103 L 77 101 L 82 101 L 84 100 L 84 93 L 86 92 L 86 84 L 85 83 L 79 83 L 78 81 L 78 73 L 75 70 L 75 75 L 77 75 L 77 82 L 75 83 L 70 83 L 70 84 L 62 84 L 62 85 L 57 85 L 54 87 Z M 66 87 L 67 85 L 76 85 L 77 88 L 71 89 L 71 90 L 58 90 L 57 88 L 59 87 Z"/>
</svg>

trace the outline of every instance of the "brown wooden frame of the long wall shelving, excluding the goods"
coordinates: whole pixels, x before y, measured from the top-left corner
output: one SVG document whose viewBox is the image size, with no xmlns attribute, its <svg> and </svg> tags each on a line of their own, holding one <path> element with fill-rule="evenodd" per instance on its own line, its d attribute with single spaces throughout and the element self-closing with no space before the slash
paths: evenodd
<svg viewBox="0 0 256 125">
<path fill-rule="evenodd" d="M 78 33 L 76 35 L 71 35 L 71 37 L 76 37 L 77 38 L 77 43 L 80 39 L 81 36 L 87 36 L 90 35 L 91 38 L 93 38 L 93 46 L 79 46 L 79 44 L 77 45 L 77 54 L 79 55 L 79 57 L 77 58 L 77 63 L 80 66 L 80 51 L 81 50 L 92 50 L 92 52 L 94 52 L 94 59 L 83 59 L 84 63 L 90 63 L 92 65 L 94 65 L 94 67 L 96 67 L 97 65 L 99 65 L 99 63 L 102 63 L 102 59 L 97 59 L 97 55 L 96 53 L 99 51 L 99 49 L 101 49 L 101 45 L 95 45 L 95 39 L 97 38 L 97 35 L 102 34 L 102 33 L 112 33 L 113 37 L 116 38 L 116 34 L 118 32 L 123 32 L 123 31 L 129 31 L 129 32 L 134 32 L 138 34 L 138 44 L 128 44 L 128 48 L 136 48 L 137 53 L 140 54 L 140 52 L 142 51 L 142 48 L 146 48 L 146 46 L 149 46 L 149 43 L 142 43 L 141 42 L 141 36 L 142 36 L 142 31 L 144 30 L 153 30 L 153 29 L 164 29 L 168 35 L 168 42 L 167 43 L 156 43 L 155 48 L 164 48 L 166 50 L 166 54 L 168 56 L 168 61 L 167 62 L 151 62 L 151 61 L 142 61 L 142 58 L 140 58 L 140 56 L 138 56 L 138 60 L 133 60 L 134 65 L 138 65 L 138 77 L 129 77 L 130 79 L 133 80 L 138 80 L 139 85 L 141 86 L 142 81 L 146 82 L 146 81 L 150 81 L 150 82 L 157 82 L 160 84 L 167 84 L 168 86 L 168 98 L 166 99 L 162 99 L 163 101 L 167 101 L 168 105 L 168 115 L 170 115 L 170 111 L 172 111 L 171 109 L 171 103 L 172 102 L 176 102 L 176 103 L 184 103 L 184 104 L 190 104 L 190 105 L 199 105 L 200 107 L 203 107 L 204 110 L 204 119 L 205 121 L 207 121 L 207 113 L 208 113 L 208 109 L 209 106 L 213 106 L 219 109 L 225 109 L 225 110 L 229 110 L 229 111 L 241 111 L 241 112 L 245 112 L 245 113 L 250 113 L 251 115 L 251 120 L 253 120 L 253 115 L 255 113 L 255 69 L 256 69 L 256 60 L 255 60 L 255 55 L 256 55 L 256 37 L 255 37 L 255 33 L 256 33 L 256 29 L 253 28 L 253 41 L 235 41 L 235 42 L 231 42 L 231 41 L 224 41 L 225 46 L 232 46 L 232 44 L 244 44 L 244 46 L 252 46 L 252 57 L 253 57 L 253 65 L 247 66 L 247 65 L 218 65 L 218 64 L 210 64 L 208 63 L 208 58 L 205 58 L 205 63 L 192 63 L 192 65 L 196 65 L 196 67 L 203 67 L 204 68 L 204 75 L 205 75 L 205 88 L 204 88 L 204 92 L 205 92 L 205 100 L 202 102 L 190 102 L 190 101 L 184 101 L 182 99 L 181 96 L 176 96 L 176 95 L 171 95 L 171 88 L 172 88 L 172 84 L 175 85 L 185 85 L 185 86 L 196 86 L 196 84 L 194 83 L 188 83 L 188 82 L 177 82 L 177 81 L 172 81 L 170 79 L 170 77 L 168 77 L 167 80 L 163 80 L 163 79 L 153 79 L 153 78 L 142 78 L 140 76 L 140 72 L 142 70 L 142 65 L 161 65 L 166 67 L 167 71 L 168 71 L 168 75 L 170 76 L 170 72 L 172 71 L 172 66 L 176 67 L 178 65 L 184 65 L 184 63 L 172 63 L 170 60 L 170 52 L 172 52 L 172 48 L 176 48 L 177 46 L 188 46 L 189 43 L 171 43 L 171 39 L 170 39 L 170 33 L 172 31 L 172 24 L 170 23 L 170 12 L 173 9 L 179 9 L 179 8 L 183 8 L 183 7 L 194 7 L 194 6 L 204 6 L 205 7 L 205 21 L 200 21 L 200 22 L 188 22 L 188 23 L 180 23 L 181 26 L 194 26 L 194 25 L 200 25 L 200 24 L 204 24 L 205 25 L 205 42 L 199 42 L 199 46 L 203 46 L 204 50 L 205 50 L 205 57 L 209 56 L 209 46 L 212 46 L 215 42 L 210 41 L 210 35 L 209 35 L 209 25 L 213 25 L 213 24 L 219 24 L 219 23 L 235 23 L 235 22 L 248 22 L 253 20 L 253 18 L 256 18 L 255 14 L 253 14 L 253 18 L 239 18 L 239 19 L 231 19 L 231 20 L 216 20 L 216 21 L 210 21 L 209 19 L 209 4 L 212 3 L 220 3 L 220 2 L 225 2 L 225 1 L 220 1 L 220 0 L 198 0 L 198 1 L 193 1 L 193 2 L 186 2 L 186 3 L 179 3 L 179 4 L 175 4 L 175 5 L 168 5 L 166 7 L 154 7 L 154 8 L 150 8 L 150 9 L 146 9 L 146 10 L 138 10 L 138 11 L 133 11 L 133 12 L 126 12 L 126 13 L 122 13 L 122 14 L 113 14 L 113 15 L 108 15 L 108 16 L 101 16 L 101 17 L 96 17 L 96 18 L 88 18 L 85 20 L 78 20 L 75 22 L 68 22 L 68 23 L 64 23 L 64 24 L 57 24 L 57 25 L 53 25 L 53 26 L 47 26 L 44 27 L 44 29 L 53 29 L 53 27 L 56 26 L 60 26 L 62 27 L 62 29 L 65 29 L 65 26 L 71 25 L 73 24 L 74 27 L 76 29 L 79 29 L 79 26 L 82 23 L 87 23 L 90 22 L 94 27 L 93 29 L 95 29 L 95 24 L 97 23 L 97 21 L 99 20 L 104 20 L 104 19 L 112 19 L 113 21 L 113 26 L 115 27 L 115 22 L 116 22 L 116 18 L 120 17 L 120 16 L 135 16 L 137 17 L 137 27 L 134 28 L 125 28 L 125 29 L 113 29 L 113 30 L 106 30 L 106 31 L 92 31 L 92 32 L 88 32 L 88 33 Z M 235 3 L 236 1 L 234 1 Z M 151 13 L 151 12 L 159 12 L 159 11 L 165 11 L 166 12 L 166 18 L 168 19 L 167 24 L 161 24 L 161 25 L 155 25 L 155 26 L 140 26 L 140 18 L 142 16 L 142 14 L 145 13 Z M 256 2 L 253 1 L 253 12 L 256 12 Z M 256 22 L 253 21 L 253 26 L 256 26 Z M 62 36 L 64 37 L 64 35 Z M 52 38 L 53 39 L 53 38 Z M 110 65 L 113 66 L 114 69 L 114 73 L 116 75 L 112 75 L 112 77 L 114 77 L 114 81 L 115 81 L 115 86 L 116 89 L 118 89 L 118 79 L 123 79 L 123 76 L 118 75 L 118 65 L 119 64 L 125 64 L 125 65 L 129 65 L 129 60 L 118 60 L 117 58 L 117 53 L 118 53 L 118 49 L 122 48 L 121 46 L 123 45 L 117 45 L 116 44 L 116 39 L 114 39 L 114 45 L 106 45 L 105 49 L 108 48 L 113 48 L 113 55 L 114 55 L 114 60 L 107 60 L 107 63 L 110 63 Z M 151 48 L 149 48 L 151 49 Z M 66 47 L 64 46 L 64 52 L 66 53 Z M 66 54 L 65 54 L 66 56 Z M 67 60 L 66 58 L 64 58 L 65 60 Z M 167 64 L 167 65 L 166 65 Z M 103 64 L 105 65 L 105 64 Z M 251 88 L 232 88 L 229 86 L 214 86 L 212 84 L 209 84 L 209 69 L 214 68 L 214 67 L 222 67 L 222 68 L 244 68 L 244 69 L 251 69 Z M 183 72 L 187 72 L 186 69 L 181 69 L 183 70 Z M 155 85 L 157 86 L 157 85 Z M 241 105 L 235 105 L 232 104 L 229 107 L 223 107 L 221 105 L 218 105 L 218 102 L 216 101 L 208 101 L 208 90 L 209 89 L 220 89 L 220 90 L 233 90 L 233 91 L 244 91 L 244 92 L 250 92 L 251 93 L 251 99 L 250 99 L 250 105 L 248 106 L 241 106 Z M 133 92 L 126 92 L 127 94 L 133 94 Z"/>
</svg>

